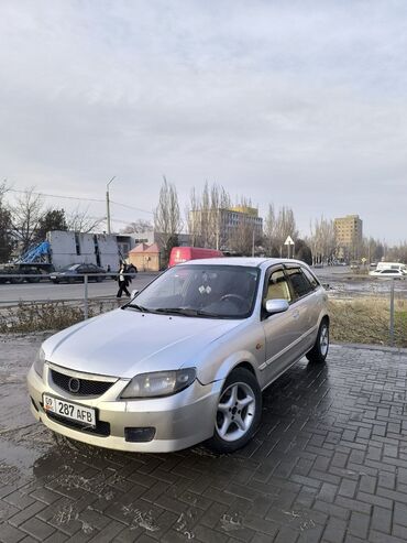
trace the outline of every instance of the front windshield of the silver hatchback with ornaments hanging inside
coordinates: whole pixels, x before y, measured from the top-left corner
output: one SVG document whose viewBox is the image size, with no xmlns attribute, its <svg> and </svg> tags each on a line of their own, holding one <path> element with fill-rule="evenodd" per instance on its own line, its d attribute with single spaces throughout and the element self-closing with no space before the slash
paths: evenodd
<svg viewBox="0 0 407 543">
<path fill-rule="evenodd" d="M 251 315 L 260 270 L 242 265 L 180 265 L 170 268 L 128 307 L 139 311 L 212 318 Z"/>
</svg>

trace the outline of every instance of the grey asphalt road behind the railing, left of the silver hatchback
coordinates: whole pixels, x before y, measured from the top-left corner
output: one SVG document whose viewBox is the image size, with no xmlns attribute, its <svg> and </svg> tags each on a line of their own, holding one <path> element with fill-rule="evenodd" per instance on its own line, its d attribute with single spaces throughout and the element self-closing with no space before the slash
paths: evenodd
<svg viewBox="0 0 407 543">
<path fill-rule="evenodd" d="M 138 273 L 129 286 L 129 290 L 141 290 L 148 284 L 156 273 Z M 88 283 L 89 298 L 114 297 L 118 292 L 118 283 L 106 280 L 101 283 Z M 82 300 L 85 293 L 84 283 L 59 283 L 48 281 L 41 283 L 0 284 L 0 306 L 15 305 L 20 301 L 46 302 L 56 300 Z"/>
</svg>

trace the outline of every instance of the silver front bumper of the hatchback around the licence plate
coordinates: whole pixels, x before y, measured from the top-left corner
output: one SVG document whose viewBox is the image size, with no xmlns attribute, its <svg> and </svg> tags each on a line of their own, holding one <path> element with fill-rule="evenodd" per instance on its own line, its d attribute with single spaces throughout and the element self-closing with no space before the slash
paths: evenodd
<svg viewBox="0 0 407 543">
<path fill-rule="evenodd" d="M 80 377 L 79 373 L 76 376 Z M 118 400 L 127 383 L 127 380 L 118 380 L 98 398 L 78 397 L 55 385 L 50 367 L 45 363 L 43 379 L 33 368 L 28 374 L 31 412 L 37 421 L 58 434 L 118 450 L 168 453 L 196 445 L 213 434 L 221 381 L 202 385 L 196 379 L 190 387 L 170 397 Z M 51 417 L 43 409 L 44 393 L 94 408 L 98 420 L 96 431 L 78 425 L 74 427 L 75 424 L 68 420 Z M 98 426 L 107 435 L 100 435 L 100 432 L 98 434 Z M 128 442 L 124 436 L 125 427 L 154 427 L 155 435 L 146 443 Z"/>
</svg>

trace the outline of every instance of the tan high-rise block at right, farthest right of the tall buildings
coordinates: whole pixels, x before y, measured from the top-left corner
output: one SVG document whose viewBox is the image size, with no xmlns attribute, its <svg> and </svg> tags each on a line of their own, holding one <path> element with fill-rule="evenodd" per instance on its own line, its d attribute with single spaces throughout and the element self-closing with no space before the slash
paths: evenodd
<svg viewBox="0 0 407 543">
<path fill-rule="evenodd" d="M 363 221 L 359 215 L 346 215 L 333 220 L 337 238 L 338 257 L 345 260 L 358 260 L 361 254 L 363 239 Z"/>
</svg>

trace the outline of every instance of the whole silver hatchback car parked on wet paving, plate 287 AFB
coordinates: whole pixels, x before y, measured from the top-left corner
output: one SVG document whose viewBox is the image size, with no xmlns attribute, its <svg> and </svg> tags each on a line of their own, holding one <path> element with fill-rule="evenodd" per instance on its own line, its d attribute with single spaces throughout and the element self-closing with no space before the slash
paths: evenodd
<svg viewBox="0 0 407 543">
<path fill-rule="evenodd" d="M 327 294 L 304 262 L 189 261 L 44 341 L 31 409 L 101 447 L 233 452 L 258 427 L 262 390 L 304 355 L 323 362 L 328 346 Z"/>
</svg>

